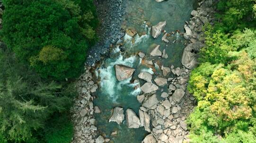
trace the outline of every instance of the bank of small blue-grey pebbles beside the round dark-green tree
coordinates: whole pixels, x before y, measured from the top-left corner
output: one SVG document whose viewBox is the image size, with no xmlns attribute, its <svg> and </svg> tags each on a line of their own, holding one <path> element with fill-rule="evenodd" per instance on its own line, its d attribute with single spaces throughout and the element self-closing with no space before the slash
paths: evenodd
<svg viewBox="0 0 256 143">
<path fill-rule="evenodd" d="M 94 0 L 100 26 L 97 29 L 99 42 L 88 51 L 86 64 L 93 66 L 101 56 L 109 53 L 110 45 L 120 40 L 125 32 L 121 24 L 125 14 L 125 0 Z"/>
</svg>

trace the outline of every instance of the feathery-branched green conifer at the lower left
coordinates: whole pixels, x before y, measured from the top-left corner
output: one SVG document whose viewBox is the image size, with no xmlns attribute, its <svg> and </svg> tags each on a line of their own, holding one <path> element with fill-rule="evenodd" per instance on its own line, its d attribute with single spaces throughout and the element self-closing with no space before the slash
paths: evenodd
<svg viewBox="0 0 256 143">
<path fill-rule="evenodd" d="M 0 49 L 0 65 L 0 141 L 42 143 L 34 134 L 53 114 L 69 110 L 73 86 L 41 80 L 8 50 Z"/>
</svg>

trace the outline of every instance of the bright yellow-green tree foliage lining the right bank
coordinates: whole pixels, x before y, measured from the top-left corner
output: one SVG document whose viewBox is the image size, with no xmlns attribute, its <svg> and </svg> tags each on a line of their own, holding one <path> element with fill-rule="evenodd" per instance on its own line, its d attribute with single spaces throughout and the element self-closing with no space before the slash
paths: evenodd
<svg viewBox="0 0 256 143">
<path fill-rule="evenodd" d="M 191 143 L 255 143 L 255 2 L 220 0 L 218 9 L 220 23 L 204 26 L 201 64 L 189 79 L 198 101 L 186 120 Z"/>
</svg>

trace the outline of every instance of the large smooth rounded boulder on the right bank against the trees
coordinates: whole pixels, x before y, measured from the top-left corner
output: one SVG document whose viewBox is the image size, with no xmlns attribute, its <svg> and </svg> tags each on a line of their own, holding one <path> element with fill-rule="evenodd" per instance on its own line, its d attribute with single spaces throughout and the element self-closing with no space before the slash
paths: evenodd
<svg viewBox="0 0 256 143">
<path fill-rule="evenodd" d="M 193 69 L 198 65 L 196 51 L 199 50 L 202 43 L 196 42 L 186 46 L 183 51 L 181 63 L 188 69 Z"/>
</svg>

